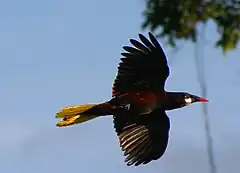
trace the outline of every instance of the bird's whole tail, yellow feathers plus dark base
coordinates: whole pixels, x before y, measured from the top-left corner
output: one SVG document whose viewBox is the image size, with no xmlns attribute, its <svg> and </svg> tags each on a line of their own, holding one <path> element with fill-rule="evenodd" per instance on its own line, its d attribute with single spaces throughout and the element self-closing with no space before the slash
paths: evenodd
<svg viewBox="0 0 240 173">
<path fill-rule="evenodd" d="M 56 126 L 70 126 L 92 120 L 101 115 L 107 115 L 106 108 L 108 108 L 107 103 L 64 107 L 56 115 L 57 119 L 62 118 Z"/>
</svg>

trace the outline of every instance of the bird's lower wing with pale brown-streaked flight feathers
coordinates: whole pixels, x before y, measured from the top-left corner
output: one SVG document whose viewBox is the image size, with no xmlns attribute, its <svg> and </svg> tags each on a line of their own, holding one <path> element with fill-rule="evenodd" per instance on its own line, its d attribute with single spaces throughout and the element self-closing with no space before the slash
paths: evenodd
<svg viewBox="0 0 240 173">
<path fill-rule="evenodd" d="M 127 114 L 114 115 L 113 122 L 128 166 L 147 164 L 164 154 L 170 129 L 164 110 L 156 109 L 135 118 Z"/>
</svg>

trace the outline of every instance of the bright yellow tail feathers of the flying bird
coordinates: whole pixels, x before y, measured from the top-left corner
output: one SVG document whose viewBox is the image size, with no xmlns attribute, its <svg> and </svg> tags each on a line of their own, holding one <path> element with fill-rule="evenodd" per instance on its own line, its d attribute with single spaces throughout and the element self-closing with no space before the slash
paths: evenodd
<svg viewBox="0 0 240 173">
<path fill-rule="evenodd" d="M 63 108 L 56 115 L 56 118 L 63 118 L 63 120 L 59 121 L 56 124 L 56 126 L 58 127 L 70 126 L 70 125 L 79 124 L 79 123 L 98 117 L 97 115 L 83 113 L 94 106 L 96 106 L 96 104 L 68 106 Z"/>
</svg>

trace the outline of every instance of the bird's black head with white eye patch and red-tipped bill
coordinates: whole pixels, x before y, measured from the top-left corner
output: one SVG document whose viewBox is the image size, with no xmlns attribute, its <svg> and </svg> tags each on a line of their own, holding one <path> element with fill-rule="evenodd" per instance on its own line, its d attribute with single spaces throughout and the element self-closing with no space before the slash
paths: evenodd
<svg viewBox="0 0 240 173">
<path fill-rule="evenodd" d="M 164 103 L 165 110 L 177 109 L 189 106 L 195 102 L 208 102 L 207 99 L 189 94 L 186 92 L 167 92 L 166 101 Z"/>
</svg>

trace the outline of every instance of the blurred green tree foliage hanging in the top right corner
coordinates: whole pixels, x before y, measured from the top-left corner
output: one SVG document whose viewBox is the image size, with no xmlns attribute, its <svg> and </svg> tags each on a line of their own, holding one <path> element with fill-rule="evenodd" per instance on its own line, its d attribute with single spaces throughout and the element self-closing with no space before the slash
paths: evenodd
<svg viewBox="0 0 240 173">
<path fill-rule="evenodd" d="M 212 20 L 220 34 L 216 46 L 227 52 L 236 48 L 240 40 L 239 0 L 146 0 L 143 29 L 158 30 L 157 37 L 197 41 L 197 25 Z"/>
</svg>

